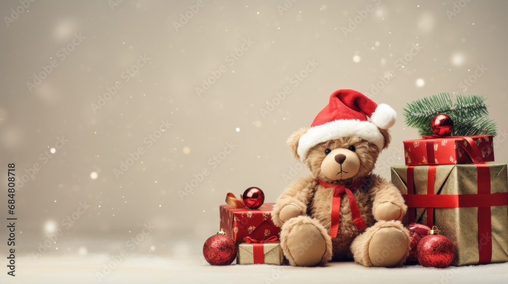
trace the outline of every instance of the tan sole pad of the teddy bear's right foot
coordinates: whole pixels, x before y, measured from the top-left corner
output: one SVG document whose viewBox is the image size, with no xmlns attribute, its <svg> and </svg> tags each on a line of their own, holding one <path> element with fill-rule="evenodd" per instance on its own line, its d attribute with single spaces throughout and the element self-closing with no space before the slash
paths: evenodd
<svg viewBox="0 0 508 284">
<path fill-rule="evenodd" d="M 373 266 L 395 267 L 405 258 L 407 235 L 396 227 L 377 230 L 369 242 L 369 258 Z"/>
</svg>

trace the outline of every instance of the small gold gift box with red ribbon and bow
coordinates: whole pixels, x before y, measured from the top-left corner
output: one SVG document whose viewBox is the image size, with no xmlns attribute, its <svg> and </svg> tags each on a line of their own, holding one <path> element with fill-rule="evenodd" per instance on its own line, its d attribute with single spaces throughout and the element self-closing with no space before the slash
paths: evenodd
<svg viewBox="0 0 508 284">
<path fill-rule="evenodd" d="M 266 241 L 246 238 L 247 242 L 238 244 L 237 264 L 275 264 L 284 262 L 284 255 L 277 237 L 271 237 Z"/>
</svg>

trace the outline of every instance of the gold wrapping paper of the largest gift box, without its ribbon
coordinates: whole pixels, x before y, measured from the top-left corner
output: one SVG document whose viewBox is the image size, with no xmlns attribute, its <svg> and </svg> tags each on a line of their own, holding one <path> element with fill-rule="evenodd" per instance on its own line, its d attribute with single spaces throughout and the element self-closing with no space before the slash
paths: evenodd
<svg viewBox="0 0 508 284">
<path fill-rule="evenodd" d="M 508 178 L 506 164 L 488 164 L 491 194 L 507 193 Z M 478 193 L 478 173 L 474 164 L 435 166 L 434 194 L 467 195 Z M 392 167 L 392 183 L 407 195 L 407 166 Z M 427 194 L 429 166 L 413 167 L 414 194 Z M 432 184 L 431 184 L 432 185 Z M 498 195 L 499 196 L 499 195 Z M 460 202 L 459 202 L 460 206 Z M 409 207 L 409 210 L 415 208 Z M 416 208 L 416 222 L 427 224 L 427 208 Z M 492 257 L 491 263 L 508 261 L 508 206 L 491 206 Z M 450 238 L 455 245 L 456 255 L 452 265 L 479 264 L 480 246 L 485 236 L 479 237 L 478 207 L 434 208 L 434 225 L 441 234 Z M 407 224 L 407 214 L 403 219 Z"/>
</svg>

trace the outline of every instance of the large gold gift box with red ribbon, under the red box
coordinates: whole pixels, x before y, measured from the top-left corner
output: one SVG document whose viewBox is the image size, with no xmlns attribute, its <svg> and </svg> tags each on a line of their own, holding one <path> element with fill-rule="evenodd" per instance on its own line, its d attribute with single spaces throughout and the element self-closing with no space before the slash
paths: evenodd
<svg viewBox="0 0 508 284">
<path fill-rule="evenodd" d="M 457 266 L 508 261 L 507 179 L 506 164 L 392 167 L 409 207 L 403 223 L 437 226 Z"/>
</svg>

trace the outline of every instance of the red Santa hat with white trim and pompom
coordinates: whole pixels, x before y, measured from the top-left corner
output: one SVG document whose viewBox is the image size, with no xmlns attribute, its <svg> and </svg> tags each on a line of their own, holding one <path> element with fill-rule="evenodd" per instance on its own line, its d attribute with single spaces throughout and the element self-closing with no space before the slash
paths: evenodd
<svg viewBox="0 0 508 284">
<path fill-rule="evenodd" d="M 397 113 L 388 104 L 376 104 L 354 90 L 335 91 L 330 96 L 328 105 L 317 114 L 309 130 L 300 137 L 298 156 L 303 161 L 313 146 L 330 139 L 348 136 L 363 138 L 382 150 L 385 146 L 385 137 L 379 128 L 392 127 L 396 118 Z"/>
</svg>

